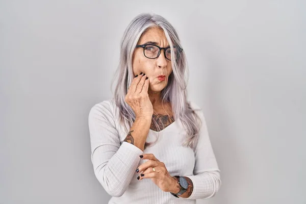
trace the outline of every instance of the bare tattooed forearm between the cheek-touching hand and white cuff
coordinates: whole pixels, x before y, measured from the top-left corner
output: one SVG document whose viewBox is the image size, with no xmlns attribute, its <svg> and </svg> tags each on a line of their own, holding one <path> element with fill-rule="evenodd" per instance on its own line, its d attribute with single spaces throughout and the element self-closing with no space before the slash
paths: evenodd
<svg viewBox="0 0 306 204">
<path fill-rule="evenodd" d="M 124 142 L 131 143 L 137 146 L 142 151 L 144 150 L 144 144 L 149 133 L 151 125 L 151 118 L 149 117 L 136 117 L 130 132 L 127 134 Z"/>
</svg>

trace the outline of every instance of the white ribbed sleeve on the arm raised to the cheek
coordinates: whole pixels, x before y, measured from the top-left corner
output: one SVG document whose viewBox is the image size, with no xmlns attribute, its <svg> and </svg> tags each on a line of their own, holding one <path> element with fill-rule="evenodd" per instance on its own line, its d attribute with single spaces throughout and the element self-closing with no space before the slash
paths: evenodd
<svg viewBox="0 0 306 204">
<path fill-rule="evenodd" d="M 96 104 L 89 112 L 88 125 L 95 176 L 108 194 L 120 197 L 131 182 L 143 151 L 127 142 L 120 145 L 113 112 L 108 100 Z"/>
</svg>

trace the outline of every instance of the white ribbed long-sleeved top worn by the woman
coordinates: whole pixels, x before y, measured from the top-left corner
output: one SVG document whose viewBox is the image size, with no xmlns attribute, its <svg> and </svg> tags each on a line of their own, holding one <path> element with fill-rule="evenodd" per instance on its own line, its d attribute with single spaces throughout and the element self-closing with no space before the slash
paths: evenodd
<svg viewBox="0 0 306 204">
<path fill-rule="evenodd" d="M 144 151 L 123 142 L 128 132 L 119 123 L 118 108 L 114 99 L 94 105 L 89 112 L 91 161 L 97 180 L 113 196 L 109 203 L 195 203 L 195 199 L 215 195 L 221 186 L 220 170 L 211 146 L 202 110 L 190 103 L 202 120 L 199 141 L 193 151 L 183 147 L 186 132 L 176 120 L 160 132 L 149 130 L 147 142 L 159 139 Z M 188 176 L 193 182 L 189 198 L 176 198 L 162 191 L 151 179 L 137 180 L 138 166 L 148 160 L 139 155 L 151 153 L 165 163 L 170 175 Z"/>
</svg>

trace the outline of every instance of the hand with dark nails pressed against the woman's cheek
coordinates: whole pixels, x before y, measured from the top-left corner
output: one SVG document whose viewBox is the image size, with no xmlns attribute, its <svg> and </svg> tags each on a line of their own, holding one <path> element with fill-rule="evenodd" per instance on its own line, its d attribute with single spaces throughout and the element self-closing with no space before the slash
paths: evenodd
<svg viewBox="0 0 306 204">
<path fill-rule="evenodd" d="M 145 73 L 143 73 L 145 74 Z M 134 77 L 125 96 L 125 102 L 131 106 L 136 118 L 152 118 L 153 106 L 149 99 L 149 79 L 142 72 Z"/>
</svg>

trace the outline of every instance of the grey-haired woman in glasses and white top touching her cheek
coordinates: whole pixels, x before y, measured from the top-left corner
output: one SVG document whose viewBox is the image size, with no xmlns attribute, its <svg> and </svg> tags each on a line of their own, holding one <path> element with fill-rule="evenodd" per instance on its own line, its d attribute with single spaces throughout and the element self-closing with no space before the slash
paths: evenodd
<svg viewBox="0 0 306 204">
<path fill-rule="evenodd" d="M 109 203 L 195 203 L 219 190 L 205 118 L 187 101 L 186 66 L 165 18 L 140 14 L 128 25 L 115 96 L 89 113 L 91 161 Z"/>
</svg>

